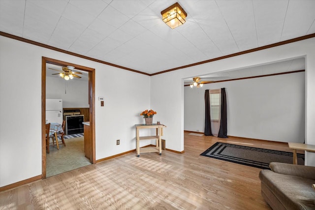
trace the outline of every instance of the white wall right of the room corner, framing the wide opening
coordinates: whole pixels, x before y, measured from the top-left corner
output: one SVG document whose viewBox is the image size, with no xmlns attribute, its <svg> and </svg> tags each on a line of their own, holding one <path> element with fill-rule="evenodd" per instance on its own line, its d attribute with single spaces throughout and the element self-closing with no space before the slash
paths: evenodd
<svg viewBox="0 0 315 210">
<path fill-rule="evenodd" d="M 301 57 L 306 57 L 306 143 L 315 145 L 314 49 L 315 38 L 310 38 L 152 76 L 151 104 L 155 111 L 162 113 L 159 120 L 167 125 L 164 132 L 166 147 L 177 151 L 184 150 L 184 78 Z M 315 153 L 306 152 L 306 165 L 315 166 Z"/>
</svg>

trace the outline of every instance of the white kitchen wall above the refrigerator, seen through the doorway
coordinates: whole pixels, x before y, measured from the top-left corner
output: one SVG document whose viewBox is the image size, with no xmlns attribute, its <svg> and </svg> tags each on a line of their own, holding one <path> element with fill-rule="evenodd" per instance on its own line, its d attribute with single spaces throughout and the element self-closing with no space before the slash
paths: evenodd
<svg viewBox="0 0 315 210">
<path fill-rule="evenodd" d="M 89 108 L 89 81 L 46 77 L 46 98 L 63 99 L 63 108 Z"/>
</svg>

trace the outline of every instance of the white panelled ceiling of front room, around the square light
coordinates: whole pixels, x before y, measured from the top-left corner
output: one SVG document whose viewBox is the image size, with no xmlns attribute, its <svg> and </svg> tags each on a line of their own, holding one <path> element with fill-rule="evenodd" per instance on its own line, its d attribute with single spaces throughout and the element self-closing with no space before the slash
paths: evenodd
<svg viewBox="0 0 315 210">
<path fill-rule="evenodd" d="M 0 0 L 0 31 L 148 74 L 315 33 L 315 0 Z M 296 69 L 300 70 L 300 69 Z"/>
</svg>

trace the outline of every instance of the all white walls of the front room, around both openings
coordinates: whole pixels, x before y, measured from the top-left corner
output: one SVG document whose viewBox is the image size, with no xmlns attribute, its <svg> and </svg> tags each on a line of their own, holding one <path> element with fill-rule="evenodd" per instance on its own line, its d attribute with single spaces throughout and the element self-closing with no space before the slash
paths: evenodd
<svg viewBox="0 0 315 210">
<path fill-rule="evenodd" d="M 306 57 L 306 143 L 315 145 L 314 49 L 310 38 L 150 78 L 0 36 L 0 186 L 41 174 L 42 56 L 96 69 L 95 98 L 105 97 L 104 107 L 95 101 L 96 159 L 101 159 L 135 149 L 134 124 L 143 123 L 139 114 L 149 108 L 167 125 L 166 147 L 184 150 L 183 78 L 297 57 Z M 306 152 L 306 165 L 315 166 L 315 153 Z"/>
</svg>

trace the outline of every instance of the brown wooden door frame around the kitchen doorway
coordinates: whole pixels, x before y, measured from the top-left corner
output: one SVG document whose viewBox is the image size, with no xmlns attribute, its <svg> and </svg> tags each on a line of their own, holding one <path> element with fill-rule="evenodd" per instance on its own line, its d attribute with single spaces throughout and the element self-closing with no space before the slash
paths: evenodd
<svg viewBox="0 0 315 210">
<path fill-rule="evenodd" d="M 42 179 L 46 179 L 46 137 L 45 137 L 45 123 L 46 123 L 46 63 L 62 66 L 74 66 L 76 69 L 89 72 L 89 104 L 90 104 L 90 129 L 92 138 L 91 157 L 90 161 L 92 164 L 96 164 L 95 157 L 95 68 L 90 68 L 74 63 L 69 63 L 61 60 L 55 60 L 51 58 L 42 57 L 41 64 L 41 130 L 42 130 Z"/>
</svg>

